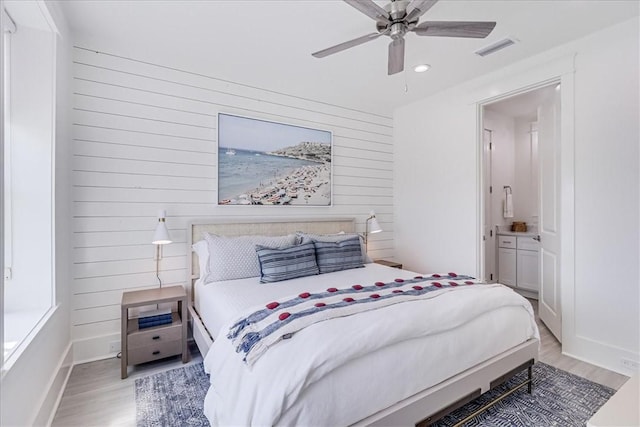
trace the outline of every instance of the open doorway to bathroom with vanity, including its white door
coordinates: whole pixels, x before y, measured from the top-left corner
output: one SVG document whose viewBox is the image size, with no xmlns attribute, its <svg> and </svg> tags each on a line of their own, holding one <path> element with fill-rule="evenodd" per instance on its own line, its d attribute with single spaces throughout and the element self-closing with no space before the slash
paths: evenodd
<svg viewBox="0 0 640 427">
<path fill-rule="evenodd" d="M 561 340 L 558 82 L 482 105 L 484 279 L 538 299 Z"/>
</svg>

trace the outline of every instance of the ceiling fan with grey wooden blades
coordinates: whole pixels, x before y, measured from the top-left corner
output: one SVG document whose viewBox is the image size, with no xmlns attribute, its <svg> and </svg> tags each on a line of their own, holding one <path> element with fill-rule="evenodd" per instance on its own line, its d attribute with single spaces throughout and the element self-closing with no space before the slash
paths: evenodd
<svg viewBox="0 0 640 427">
<path fill-rule="evenodd" d="M 376 33 L 367 34 L 327 49 L 312 53 L 316 58 L 324 58 L 354 46 L 375 40 L 380 36 L 391 37 L 389 43 L 388 74 L 396 74 L 404 69 L 404 35 L 408 32 L 419 36 L 485 38 L 496 26 L 495 22 L 477 21 L 425 21 L 418 24 L 422 15 L 438 0 L 391 0 L 384 8 L 373 0 L 344 0 L 376 21 Z"/>
</svg>

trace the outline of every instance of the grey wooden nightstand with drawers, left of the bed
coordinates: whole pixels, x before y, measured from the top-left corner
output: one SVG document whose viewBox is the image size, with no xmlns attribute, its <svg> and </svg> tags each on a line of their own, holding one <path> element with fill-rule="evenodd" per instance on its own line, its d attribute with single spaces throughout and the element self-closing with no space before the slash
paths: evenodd
<svg viewBox="0 0 640 427">
<path fill-rule="evenodd" d="M 166 325 L 138 329 L 138 319 L 129 319 L 129 309 L 144 305 L 178 303 L 178 312 Z M 182 363 L 189 361 L 187 351 L 187 293 L 182 286 L 124 292 L 122 294 L 122 370 L 127 378 L 128 366 L 182 354 Z"/>
</svg>

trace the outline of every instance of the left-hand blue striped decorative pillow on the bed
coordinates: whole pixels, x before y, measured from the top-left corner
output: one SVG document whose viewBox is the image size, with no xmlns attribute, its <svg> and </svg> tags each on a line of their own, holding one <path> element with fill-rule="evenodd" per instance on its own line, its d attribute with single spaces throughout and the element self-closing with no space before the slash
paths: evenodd
<svg viewBox="0 0 640 427">
<path fill-rule="evenodd" d="M 318 274 L 316 249 L 311 241 L 281 248 L 256 245 L 256 253 L 260 262 L 260 283 Z"/>
</svg>

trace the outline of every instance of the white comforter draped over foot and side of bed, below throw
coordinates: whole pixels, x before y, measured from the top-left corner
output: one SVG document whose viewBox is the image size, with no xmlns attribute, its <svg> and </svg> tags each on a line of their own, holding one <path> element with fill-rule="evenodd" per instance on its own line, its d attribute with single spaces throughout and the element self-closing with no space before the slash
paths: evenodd
<svg viewBox="0 0 640 427">
<path fill-rule="evenodd" d="M 502 285 L 314 324 L 251 369 L 227 330 L 205 358 L 212 425 L 348 425 L 538 337 L 529 302 Z"/>
</svg>

